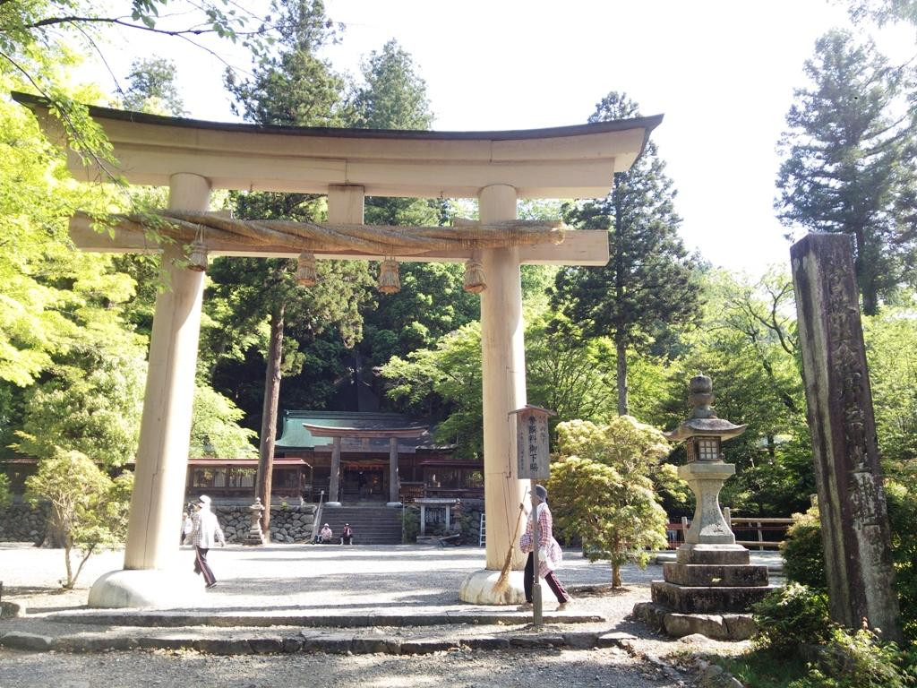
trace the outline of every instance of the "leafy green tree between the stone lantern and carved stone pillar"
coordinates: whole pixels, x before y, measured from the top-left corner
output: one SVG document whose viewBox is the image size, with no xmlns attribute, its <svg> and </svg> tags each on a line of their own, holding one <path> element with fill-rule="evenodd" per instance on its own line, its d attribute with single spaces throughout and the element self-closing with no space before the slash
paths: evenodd
<svg viewBox="0 0 917 688">
<path fill-rule="evenodd" d="M 661 425 L 675 427 L 690 413 L 688 379 L 710 375 L 717 415 L 748 426 L 724 447 L 737 472 L 724 485 L 724 505 L 736 515 L 804 510 L 815 487 L 789 276 L 769 271 L 753 281 L 710 271 L 702 287 L 702 325 L 682 336 L 686 351 L 664 395 L 674 404 Z"/>
</svg>

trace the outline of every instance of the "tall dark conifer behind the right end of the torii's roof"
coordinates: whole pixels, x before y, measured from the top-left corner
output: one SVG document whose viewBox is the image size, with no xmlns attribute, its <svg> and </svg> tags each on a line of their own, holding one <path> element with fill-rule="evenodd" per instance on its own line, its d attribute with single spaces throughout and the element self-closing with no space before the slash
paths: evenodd
<svg viewBox="0 0 917 688">
<path fill-rule="evenodd" d="M 637 105 L 625 94 L 612 92 L 589 121 L 638 114 Z M 698 315 L 695 265 L 678 235 L 675 191 L 656 145 L 647 143 L 629 171 L 615 173 L 612 193 L 604 199 L 565 205 L 564 219 L 577 228 L 608 232 L 608 264 L 558 272 L 553 304 L 587 336 L 613 339 L 618 414 L 624 416 L 627 350 L 646 350 L 654 332 Z"/>
</svg>

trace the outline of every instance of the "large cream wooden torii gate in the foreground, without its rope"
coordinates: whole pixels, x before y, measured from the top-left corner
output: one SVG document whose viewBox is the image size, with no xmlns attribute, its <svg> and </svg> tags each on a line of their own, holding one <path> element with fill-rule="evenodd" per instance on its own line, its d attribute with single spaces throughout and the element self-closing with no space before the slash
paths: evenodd
<svg viewBox="0 0 917 688">
<path fill-rule="evenodd" d="M 50 140 L 65 145 L 47 103 L 13 94 L 30 108 Z M 260 127 L 158 117 L 90 108 L 105 130 L 129 183 L 169 186 L 172 211 L 206 213 L 216 188 L 327 194 L 328 222 L 361 226 L 367 195 L 477 198 L 481 226 L 514 220 L 520 198 L 597 198 L 608 194 L 614 172 L 627 170 L 662 117 L 638 117 L 574 127 L 519 131 L 437 132 L 373 129 Z M 73 175 L 99 178 L 69 151 Z M 126 223 L 111 234 L 74 218 L 71 236 L 82 250 L 161 250 L 170 289 L 156 301 L 149 343 L 149 373 L 140 424 L 123 571 L 105 574 L 89 596 L 94 606 L 175 606 L 193 591 L 178 570 L 180 531 L 190 442 L 204 273 L 188 269 L 181 242 L 151 244 Z M 226 236 L 206 240 L 210 255 L 293 258 L 288 245 L 253 245 Z M 318 258 L 381 260 L 378 250 L 312 249 Z M 493 583 L 510 547 L 525 484 L 514 475 L 514 409 L 525 405 L 520 265 L 604 265 L 604 232 L 570 231 L 562 243 L 476 249 L 473 242 L 447 250 L 394 250 L 395 259 L 469 261 L 480 255 L 487 288 L 481 294 L 484 499 L 487 552 L 483 571 L 462 584 L 461 598 L 476 604 L 515 604 L 514 593 L 494 594 Z M 516 550 L 514 569 L 524 560 Z M 515 574 L 514 574 L 515 575 Z"/>
</svg>

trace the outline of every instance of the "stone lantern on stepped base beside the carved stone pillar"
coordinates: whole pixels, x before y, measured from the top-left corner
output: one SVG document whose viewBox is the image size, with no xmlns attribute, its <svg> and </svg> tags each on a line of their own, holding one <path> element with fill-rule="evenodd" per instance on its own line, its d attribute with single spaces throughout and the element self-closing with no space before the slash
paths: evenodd
<svg viewBox="0 0 917 688">
<path fill-rule="evenodd" d="M 710 638 L 742 640 L 756 631 L 747 613 L 763 599 L 768 567 L 749 563 L 748 550 L 735 544 L 735 535 L 720 509 L 723 483 L 735 475 L 735 465 L 723 461 L 724 439 L 735 438 L 746 426 L 716 417 L 713 383 L 706 375 L 691 378 L 689 399 L 694 410 L 677 429 L 665 433 L 684 442 L 688 461 L 679 466 L 697 500 L 694 520 L 675 561 L 663 564 L 663 581 L 652 584 L 652 603 L 635 606 L 635 616 L 670 636 L 702 633 Z"/>
</svg>

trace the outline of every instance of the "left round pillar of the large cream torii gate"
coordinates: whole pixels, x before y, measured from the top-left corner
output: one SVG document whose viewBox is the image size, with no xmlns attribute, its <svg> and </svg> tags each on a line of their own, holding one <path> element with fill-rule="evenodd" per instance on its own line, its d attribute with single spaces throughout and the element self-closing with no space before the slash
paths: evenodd
<svg viewBox="0 0 917 688">
<path fill-rule="evenodd" d="M 209 203 L 210 183 L 204 177 L 171 176 L 171 209 L 206 211 Z M 182 258 L 180 245 L 162 251 L 160 275 L 166 288 L 156 297 L 149 338 L 124 571 L 106 573 L 93 584 L 90 606 L 173 606 L 200 587 L 191 571 L 175 570 L 204 296 L 204 272 L 189 270 Z"/>
</svg>

